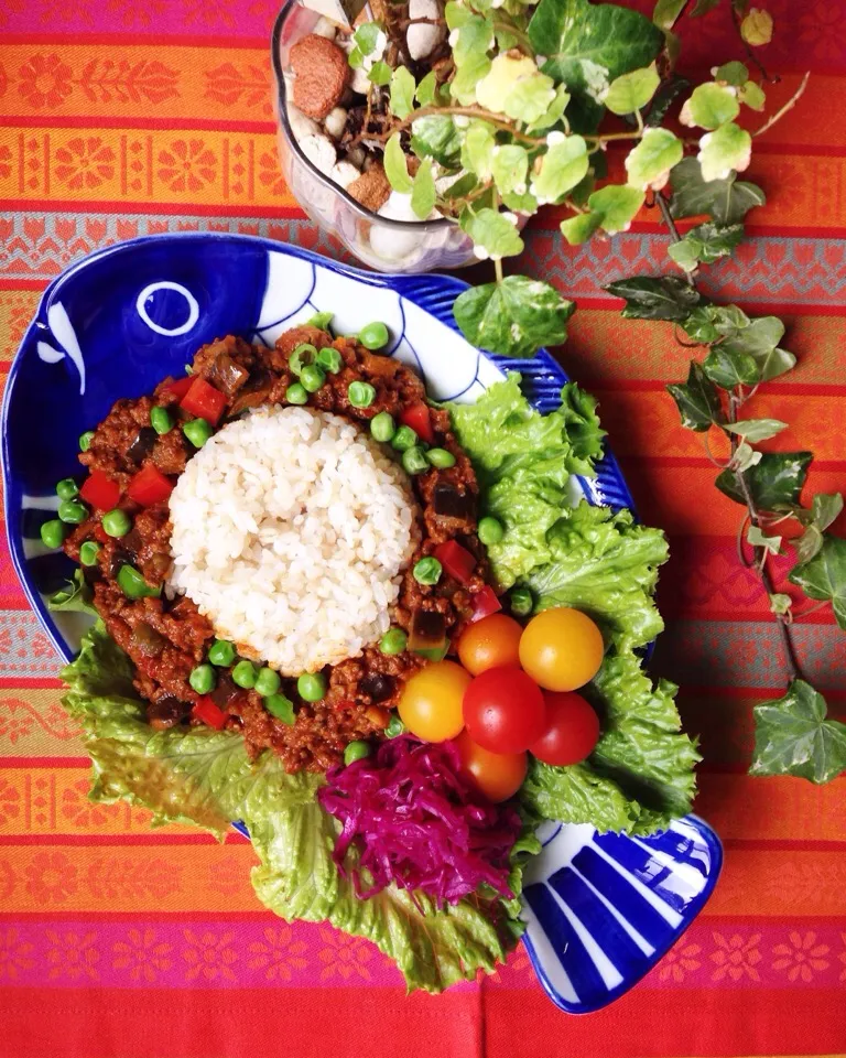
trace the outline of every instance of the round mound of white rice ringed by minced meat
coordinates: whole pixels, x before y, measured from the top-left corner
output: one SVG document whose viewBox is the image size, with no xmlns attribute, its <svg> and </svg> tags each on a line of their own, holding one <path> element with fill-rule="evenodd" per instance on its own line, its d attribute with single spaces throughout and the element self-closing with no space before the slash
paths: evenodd
<svg viewBox="0 0 846 1058">
<path fill-rule="evenodd" d="M 171 495 L 169 585 L 285 676 L 390 625 L 419 541 L 403 471 L 338 415 L 262 408 L 216 433 Z"/>
</svg>

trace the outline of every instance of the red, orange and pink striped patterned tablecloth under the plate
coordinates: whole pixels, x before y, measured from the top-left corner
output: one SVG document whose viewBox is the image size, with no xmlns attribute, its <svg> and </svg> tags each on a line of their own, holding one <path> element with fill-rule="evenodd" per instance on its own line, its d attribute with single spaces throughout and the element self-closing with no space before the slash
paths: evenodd
<svg viewBox="0 0 846 1058">
<path fill-rule="evenodd" d="M 646 9 L 646 4 L 642 6 Z M 762 57 L 800 107 L 756 142 L 768 205 L 707 283 L 776 312 L 800 367 L 756 413 L 778 446 L 816 453 L 812 483 L 844 478 L 846 0 L 768 0 Z M 739 57 L 728 4 L 687 54 Z M 333 253 L 279 172 L 269 97 L 272 0 L 0 0 L 0 368 L 62 268 L 153 231 L 258 233 Z M 766 601 L 735 557 L 738 508 L 663 391 L 685 374 L 670 328 L 622 321 L 601 285 L 666 266 L 654 217 L 574 251 L 554 217 L 529 267 L 575 295 L 562 353 L 601 401 L 610 442 L 672 559 L 655 669 L 702 733 L 697 809 L 726 844 L 705 914 L 611 1008 L 567 1017 L 518 950 L 445 996 L 405 998 L 367 943 L 289 927 L 258 905 L 250 845 L 86 800 L 88 771 L 58 703 L 57 660 L 0 552 L 0 1054 L 9 1058 L 629 1058 L 846 1052 L 846 782 L 750 779 L 752 703 L 779 692 Z M 48 423 L 33 423 L 48 429 Z M 800 622 L 806 668 L 840 711 L 844 638 Z"/>
</svg>

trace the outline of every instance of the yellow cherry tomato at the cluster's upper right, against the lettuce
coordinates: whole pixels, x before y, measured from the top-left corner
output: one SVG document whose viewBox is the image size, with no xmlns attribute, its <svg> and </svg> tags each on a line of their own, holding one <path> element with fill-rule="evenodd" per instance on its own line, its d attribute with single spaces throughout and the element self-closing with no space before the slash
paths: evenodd
<svg viewBox="0 0 846 1058">
<path fill-rule="evenodd" d="M 603 663 L 603 634 L 587 614 L 558 606 L 532 617 L 520 637 L 520 665 L 547 691 L 575 691 Z"/>
</svg>

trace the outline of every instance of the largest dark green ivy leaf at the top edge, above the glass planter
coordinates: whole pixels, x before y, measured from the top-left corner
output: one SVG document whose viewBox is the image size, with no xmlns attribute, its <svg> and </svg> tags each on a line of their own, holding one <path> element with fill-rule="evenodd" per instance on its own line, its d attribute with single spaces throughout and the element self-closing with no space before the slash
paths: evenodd
<svg viewBox="0 0 846 1058">
<path fill-rule="evenodd" d="M 549 56 L 543 72 L 563 82 L 585 105 L 586 119 L 601 116 L 601 96 L 621 74 L 658 57 L 664 34 L 637 11 L 588 0 L 541 0 L 529 40 Z"/>
</svg>

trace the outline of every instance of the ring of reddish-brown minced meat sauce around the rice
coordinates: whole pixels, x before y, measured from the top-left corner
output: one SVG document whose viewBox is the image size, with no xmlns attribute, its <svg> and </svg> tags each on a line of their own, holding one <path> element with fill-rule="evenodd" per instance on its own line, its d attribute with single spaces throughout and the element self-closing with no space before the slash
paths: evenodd
<svg viewBox="0 0 846 1058">
<path fill-rule="evenodd" d="M 322 380 L 317 377 L 319 388 L 306 392 L 297 386 L 297 375 L 303 361 L 323 349 L 335 349 L 339 357 L 328 354 L 317 360 L 330 366 Z M 360 384 L 367 384 L 364 400 Z M 292 387 L 296 400 L 289 399 Z M 207 436 L 250 408 L 305 402 L 368 430 L 376 415 L 387 412 L 398 427 L 415 428 L 416 439 L 408 430 L 406 436 L 412 444 L 416 440 L 417 452 L 425 442 L 432 460 L 412 467 L 421 540 L 391 614 L 393 626 L 408 634 L 408 645 L 399 652 L 371 645 L 360 656 L 327 667 L 319 701 L 303 700 L 297 681 L 283 679 L 280 693 L 294 708 L 282 720 L 256 690 L 238 685 L 231 667 L 216 670 L 207 695 L 192 687 L 191 674 L 207 661 L 215 629 L 191 598 L 170 598 L 163 591 L 172 563 L 167 500 L 203 444 L 204 431 Z M 191 425 L 194 420 L 196 427 Z M 115 403 L 79 456 L 89 471 L 80 493 L 89 512 L 64 549 L 79 561 L 88 543 L 83 571 L 94 605 L 134 665 L 135 685 L 149 703 L 153 727 L 206 721 L 238 730 L 251 755 L 270 747 L 289 771 L 325 771 L 340 762 L 350 742 L 383 736 L 409 677 L 426 658 L 442 657 L 471 617 L 498 608 L 486 586 L 487 564 L 476 535 L 476 476 L 449 427 L 448 413 L 426 403 L 423 382 L 403 364 L 370 352 L 356 338 L 333 338 L 310 325 L 285 332 L 273 348 L 231 335 L 213 342 L 199 349 L 185 378 L 166 378 L 152 396 Z M 432 465 L 435 462 L 441 465 Z M 116 519 L 123 522 L 119 536 Z M 435 583 L 421 583 L 415 566 L 436 555 L 444 559 L 440 575 Z M 438 562 L 434 566 L 437 570 Z M 404 637 L 399 638 L 402 646 Z M 261 661 L 242 645 L 235 647 L 242 657 Z"/>
</svg>

